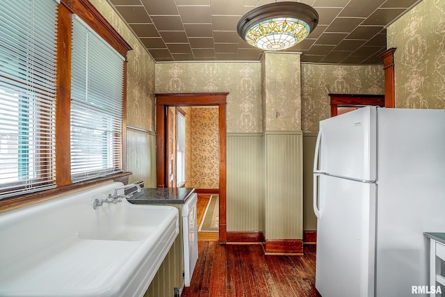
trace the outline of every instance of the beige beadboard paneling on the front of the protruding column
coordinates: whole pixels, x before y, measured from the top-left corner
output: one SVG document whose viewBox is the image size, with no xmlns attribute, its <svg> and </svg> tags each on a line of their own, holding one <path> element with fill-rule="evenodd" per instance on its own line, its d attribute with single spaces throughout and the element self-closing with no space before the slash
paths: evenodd
<svg viewBox="0 0 445 297">
<path fill-rule="evenodd" d="M 302 239 L 302 134 L 267 133 L 265 139 L 266 242 Z"/>
</svg>

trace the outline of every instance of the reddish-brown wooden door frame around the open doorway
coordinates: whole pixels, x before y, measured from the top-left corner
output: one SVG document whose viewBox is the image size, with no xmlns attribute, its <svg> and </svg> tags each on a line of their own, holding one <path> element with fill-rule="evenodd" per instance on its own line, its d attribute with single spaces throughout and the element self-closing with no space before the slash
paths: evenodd
<svg viewBox="0 0 445 297">
<path fill-rule="evenodd" d="M 217 106 L 219 129 L 219 241 L 227 241 L 226 103 L 228 93 L 156 94 L 156 184 L 168 186 L 168 111 L 170 106 Z"/>
</svg>

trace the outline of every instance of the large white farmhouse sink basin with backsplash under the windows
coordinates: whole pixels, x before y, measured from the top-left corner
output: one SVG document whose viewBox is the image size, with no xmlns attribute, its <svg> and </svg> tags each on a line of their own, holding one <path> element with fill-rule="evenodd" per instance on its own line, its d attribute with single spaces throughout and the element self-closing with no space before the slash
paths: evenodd
<svg viewBox="0 0 445 297">
<path fill-rule="evenodd" d="M 0 296 L 143 296 L 179 232 L 175 207 L 122 200 L 120 183 L 0 214 Z"/>
</svg>

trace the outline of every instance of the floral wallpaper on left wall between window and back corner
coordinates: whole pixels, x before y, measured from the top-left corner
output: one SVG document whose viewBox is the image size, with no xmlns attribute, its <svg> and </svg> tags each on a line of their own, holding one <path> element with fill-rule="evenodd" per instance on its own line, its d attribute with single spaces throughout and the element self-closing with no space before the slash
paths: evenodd
<svg viewBox="0 0 445 297">
<path fill-rule="evenodd" d="M 155 63 L 107 1 L 90 0 L 90 2 L 132 48 L 127 54 L 127 125 L 154 131 Z"/>
</svg>

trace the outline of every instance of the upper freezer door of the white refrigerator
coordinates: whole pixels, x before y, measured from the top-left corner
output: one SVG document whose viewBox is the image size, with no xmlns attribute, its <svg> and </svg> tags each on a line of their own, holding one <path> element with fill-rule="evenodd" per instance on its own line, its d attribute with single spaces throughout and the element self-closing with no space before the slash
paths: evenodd
<svg viewBox="0 0 445 297">
<path fill-rule="evenodd" d="M 376 113 L 375 106 L 368 106 L 321 121 L 318 168 L 314 171 L 374 181 Z"/>
</svg>

